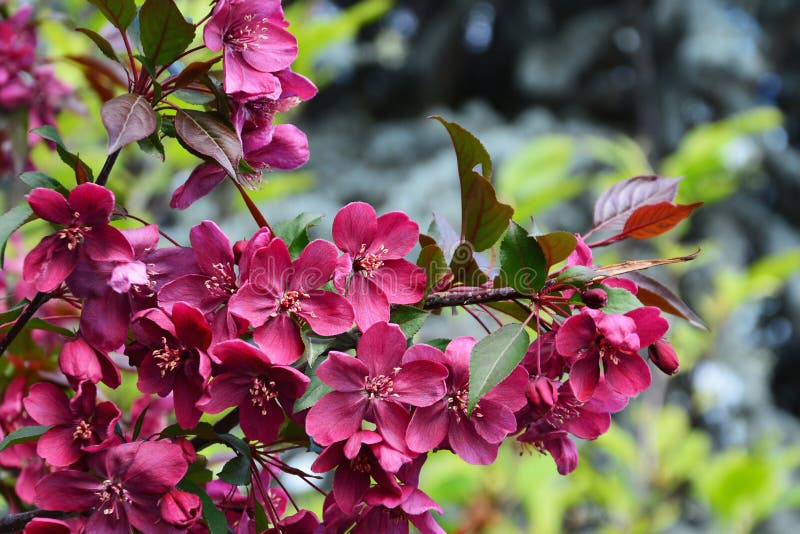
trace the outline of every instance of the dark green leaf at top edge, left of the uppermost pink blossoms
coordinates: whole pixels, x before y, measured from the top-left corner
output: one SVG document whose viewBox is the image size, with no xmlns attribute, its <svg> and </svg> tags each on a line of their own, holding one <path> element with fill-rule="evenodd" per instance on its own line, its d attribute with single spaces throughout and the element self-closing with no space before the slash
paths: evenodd
<svg viewBox="0 0 800 534">
<path fill-rule="evenodd" d="M 146 0 L 139 12 L 142 48 L 156 65 L 169 65 L 194 40 L 189 24 L 173 0 Z"/>
</svg>

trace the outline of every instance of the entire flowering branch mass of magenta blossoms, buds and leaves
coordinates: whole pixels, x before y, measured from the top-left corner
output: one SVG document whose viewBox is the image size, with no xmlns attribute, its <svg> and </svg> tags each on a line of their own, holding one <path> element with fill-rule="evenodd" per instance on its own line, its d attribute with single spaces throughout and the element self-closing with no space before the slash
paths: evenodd
<svg viewBox="0 0 800 534">
<path fill-rule="evenodd" d="M 130 48 L 126 28 L 137 8 L 119 6 L 104 14 Z M 28 302 L 3 309 L 11 321 L 0 355 L 9 351 L 15 376 L 0 403 L 0 467 L 17 477 L 13 511 L 37 506 L 63 517 L 16 526 L 299 534 L 401 533 L 414 525 L 439 533 L 433 512 L 442 509 L 420 487 L 431 455 L 486 465 L 511 441 L 549 453 L 567 474 L 578 463 L 572 437 L 599 437 L 611 414 L 650 385 L 645 352 L 666 374 L 677 371 L 657 307 L 677 297 L 648 299 L 626 277 L 636 262 L 593 263 L 593 248 L 634 232 L 624 219 L 636 206 L 615 211 L 616 200 L 601 197 L 595 228 L 583 236 L 530 236 L 474 170 L 488 158 L 483 147 L 447 121 L 462 183 L 473 184 L 465 198 L 479 200 L 465 200 L 456 243 L 438 243 L 406 214 L 378 215 L 363 202 L 332 218 L 331 240 L 312 240 L 303 215 L 271 227 L 242 182 L 305 162 L 305 136 L 273 118 L 316 92 L 290 70 L 297 41 L 280 2 L 218 0 L 203 40 L 206 53 L 221 57 L 177 73 L 166 67 L 179 71 L 175 60 L 195 51 L 188 49 L 195 25 L 154 16 L 160 9 L 180 14 L 172 0 L 139 9 L 149 56 L 129 56 L 130 94 L 104 105 L 114 142 L 97 179 L 73 168 L 78 184 L 65 188 L 37 175 L 40 187 L 22 206 L 51 230 L 8 269 L 21 278 L 12 294 Z M 0 38 L 27 16 L 0 21 Z M 32 46 L 27 38 L 0 41 L 19 65 Z M 222 71 L 206 75 L 220 59 Z M 0 87 L 13 68 L 0 67 Z M 179 89 L 217 99 L 204 111 L 169 100 L 158 106 Z M 188 207 L 230 176 L 259 226 L 248 239 L 232 240 L 206 220 L 181 246 L 119 205 L 106 186 L 118 145 L 157 148 L 168 135 L 204 158 L 172 206 Z M 656 199 L 666 209 L 676 186 L 637 177 L 613 194 Z M 144 225 L 117 228 L 127 216 Z M 585 242 L 620 225 L 618 234 Z M 659 221 L 648 231 L 666 229 Z M 0 282 L 7 284 L 5 276 Z M 443 308 L 466 310 L 487 336 L 417 343 L 422 324 Z M 685 306 L 664 306 L 678 308 Z M 498 328 L 490 331 L 481 315 Z M 36 361 L 30 344 L 15 344 L 27 327 L 50 336 L 44 342 L 34 337 L 42 332 L 30 333 L 45 353 Z M 129 410 L 116 395 L 125 389 L 137 395 Z M 229 453 L 204 456 L 212 444 Z M 311 473 L 288 463 L 285 453 L 295 449 L 317 453 Z M 312 479 L 323 474 L 318 487 Z M 318 513 L 299 509 L 279 476 L 324 493 Z"/>
</svg>

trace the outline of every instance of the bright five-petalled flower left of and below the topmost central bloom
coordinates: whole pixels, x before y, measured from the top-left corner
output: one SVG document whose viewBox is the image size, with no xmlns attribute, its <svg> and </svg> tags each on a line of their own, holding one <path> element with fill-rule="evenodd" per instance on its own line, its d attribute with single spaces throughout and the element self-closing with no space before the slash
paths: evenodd
<svg viewBox="0 0 800 534">
<path fill-rule="evenodd" d="M 330 280 L 336 248 L 317 239 L 292 261 L 282 239 L 257 250 L 247 282 L 231 297 L 232 314 L 255 327 L 253 339 L 269 351 L 273 363 L 288 365 L 303 354 L 300 326 L 307 322 L 323 336 L 335 336 L 353 324 L 353 309 L 341 296 L 319 289 Z"/>
</svg>

